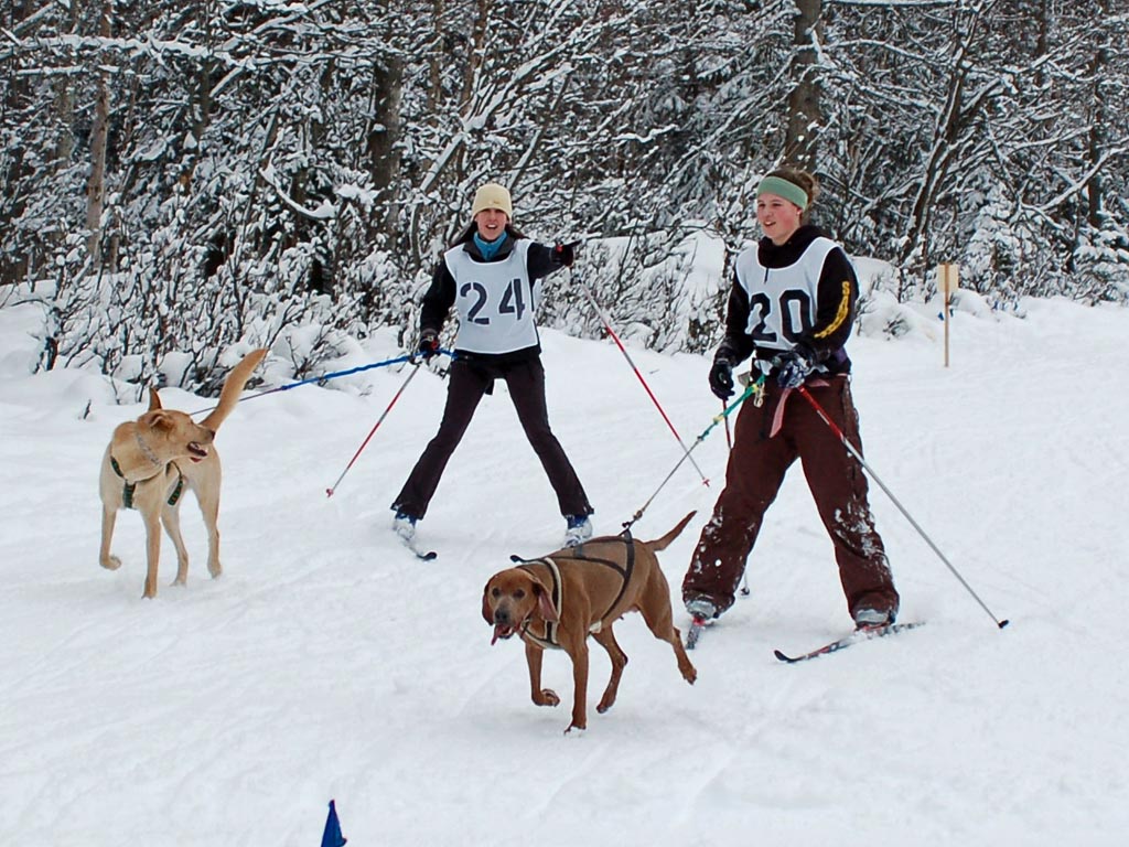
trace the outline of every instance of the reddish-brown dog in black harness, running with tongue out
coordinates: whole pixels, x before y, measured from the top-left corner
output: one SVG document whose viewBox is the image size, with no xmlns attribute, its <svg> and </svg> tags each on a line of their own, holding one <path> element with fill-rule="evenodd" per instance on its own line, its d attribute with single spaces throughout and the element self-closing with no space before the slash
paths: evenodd
<svg viewBox="0 0 1129 847">
<path fill-rule="evenodd" d="M 588 644 L 590 635 L 607 650 L 612 676 L 596 711 L 615 702 L 628 657 L 612 634 L 612 625 L 632 610 L 642 613 L 655 637 L 669 643 L 683 679 L 693 684 L 698 671 L 682 647 L 674 627 L 671 590 L 655 556 L 664 550 L 694 516 L 691 512 L 658 541 L 636 541 L 609 535 L 564 548 L 543 559 L 523 561 L 490 577 L 482 592 L 482 617 L 495 628 L 491 644 L 514 634 L 525 641 L 533 702 L 557 706 L 560 698 L 541 688 L 541 658 L 545 648 L 560 648 L 572 660 L 572 727 L 587 726 Z"/>
</svg>

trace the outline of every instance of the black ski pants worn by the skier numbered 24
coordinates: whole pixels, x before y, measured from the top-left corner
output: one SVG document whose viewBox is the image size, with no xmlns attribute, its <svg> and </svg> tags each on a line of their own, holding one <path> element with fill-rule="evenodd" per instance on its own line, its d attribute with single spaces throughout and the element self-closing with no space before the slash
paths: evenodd
<svg viewBox="0 0 1129 847">
<path fill-rule="evenodd" d="M 564 455 L 557 436 L 549 428 L 545 405 L 545 372 L 541 359 L 534 358 L 506 365 L 483 365 L 455 359 L 447 384 L 447 404 L 443 410 L 439 431 L 423 449 L 392 508 L 415 517 L 427 514 L 447 461 L 463 439 L 466 427 L 483 394 L 493 390 L 496 378 L 505 379 L 525 437 L 541 460 L 549 482 L 557 492 L 562 515 L 589 515 L 593 512 L 572 464 Z"/>
</svg>

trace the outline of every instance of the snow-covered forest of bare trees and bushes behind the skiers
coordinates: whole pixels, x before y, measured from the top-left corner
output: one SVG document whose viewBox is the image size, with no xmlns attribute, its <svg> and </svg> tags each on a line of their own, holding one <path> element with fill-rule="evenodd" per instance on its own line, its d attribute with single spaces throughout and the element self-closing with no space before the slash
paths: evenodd
<svg viewBox="0 0 1129 847">
<path fill-rule="evenodd" d="M 902 298 L 957 261 L 990 299 L 1126 302 L 1127 29 L 1124 0 L 14 0 L 0 303 L 43 304 L 45 367 L 210 388 L 269 343 L 316 372 L 410 343 L 496 180 L 531 236 L 585 241 L 546 322 L 599 335 L 590 291 L 704 350 L 732 269 L 695 253 L 755 237 L 785 163 Z"/>
</svg>

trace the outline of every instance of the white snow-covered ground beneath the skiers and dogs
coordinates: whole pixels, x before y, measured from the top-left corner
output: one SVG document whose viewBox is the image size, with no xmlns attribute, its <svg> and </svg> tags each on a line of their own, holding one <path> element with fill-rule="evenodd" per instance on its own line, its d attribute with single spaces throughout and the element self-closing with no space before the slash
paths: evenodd
<svg viewBox="0 0 1129 847">
<path fill-rule="evenodd" d="M 242 403 L 220 430 L 222 578 L 185 503 L 189 584 L 141 599 L 143 535 L 119 519 L 97 564 L 97 469 L 115 405 L 89 373 L 29 376 L 34 307 L 0 311 L 0 844 L 314 847 L 330 798 L 356 847 L 592 845 L 1120 845 L 1129 830 L 1129 311 L 1027 302 L 856 337 L 867 459 L 991 612 L 998 630 L 877 487 L 902 593 L 927 626 L 802 665 L 850 628 L 830 543 L 794 469 L 750 562 L 751 596 L 691 653 L 638 615 L 619 701 L 593 648 L 587 732 L 563 735 L 570 667 L 545 658 L 555 709 L 530 702 L 515 641 L 490 646 L 488 577 L 554 549 L 563 521 L 504 387 L 480 408 L 420 542 L 388 504 L 438 424 L 420 374 L 334 497 L 404 381 L 369 370 Z M 925 325 L 925 324 L 922 324 Z M 378 337 L 367 361 L 397 355 Z M 550 414 L 614 533 L 681 451 L 610 343 L 544 333 Z M 719 410 L 707 360 L 632 350 L 689 444 Z M 343 366 L 362 364 L 361 360 Z M 177 390 L 167 407 L 209 401 Z M 87 413 L 87 409 L 89 411 Z M 725 433 L 634 526 L 677 585 L 723 482 Z"/>
</svg>

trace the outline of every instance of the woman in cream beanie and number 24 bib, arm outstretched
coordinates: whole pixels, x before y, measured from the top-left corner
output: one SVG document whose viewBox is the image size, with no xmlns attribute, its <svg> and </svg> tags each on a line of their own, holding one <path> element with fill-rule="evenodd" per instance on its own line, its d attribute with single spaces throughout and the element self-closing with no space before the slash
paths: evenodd
<svg viewBox="0 0 1129 847">
<path fill-rule="evenodd" d="M 513 225 L 509 191 L 487 183 L 474 193 L 471 222 L 438 264 L 423 295 L 419 351 L 439 349 L 439 333 L 452 306 L 458 334 L 450 364 L 447 403 L 439 431 L 417 461 L 393 500 L 393 527 L 410 541 L 427 514 L 447 461 L 463 438 L 474 410 L 495 379 L 505 379 L 517 417 L 557 492 L 566 518 L 566 544 L 592 536 L 593 508 L 572 464 L 549 427 L 545 373 L 534 312 L 541 279 L 572 264 L 574 246 L 549 246 L 526 238 Z"/>
</svg>

